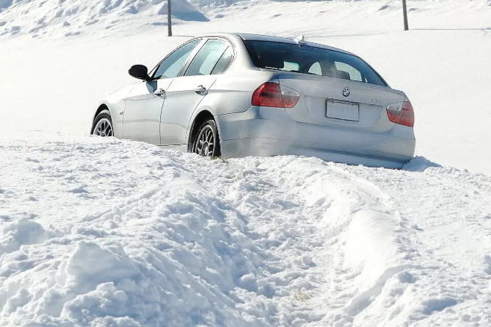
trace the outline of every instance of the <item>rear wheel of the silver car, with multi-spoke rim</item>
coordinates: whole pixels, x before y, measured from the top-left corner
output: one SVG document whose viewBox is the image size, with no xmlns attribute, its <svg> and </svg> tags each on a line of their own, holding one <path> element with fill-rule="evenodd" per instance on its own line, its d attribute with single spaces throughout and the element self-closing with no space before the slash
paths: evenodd
<svg viewBox="0 0 491 327">
<path fill-rule="evenodd" d="M 213 119 L 209 119 L 199 126 L 192 150 L 204 157 L 216 158 L 221 155 L 220 137 Z"/>
</svg>

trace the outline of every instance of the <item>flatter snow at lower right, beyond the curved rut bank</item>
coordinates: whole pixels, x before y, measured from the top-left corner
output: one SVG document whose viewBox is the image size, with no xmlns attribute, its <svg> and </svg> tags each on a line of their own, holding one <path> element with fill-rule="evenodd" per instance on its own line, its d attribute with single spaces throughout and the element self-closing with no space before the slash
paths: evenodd
<svg viewBox="0 0 491 327">
<path fill-rule="evenodd" d="M 487 325 L 491 315 L 482 313 L 489 311 L 491 292 L 486 273 L 491 224 L 485 217 L 491 212 L 491 201 L 483 199 L 491 198 L 491 180 L 420 161 L 425 160 L 415 159 L 410 165 L 417 172 L 347 168 L 393 195 L 400 215 L 414 230 L 413 244 L 421 255 L 418 263 L 432 268 L 410 270 L 410 287 L 393 283 L 399 293 L 396 301 L 389 289 L 384 290 L 385 304 L 371 308 L 355 324 Z M 381 314 L 382 309 L 386 314 Z"/>
</svg>

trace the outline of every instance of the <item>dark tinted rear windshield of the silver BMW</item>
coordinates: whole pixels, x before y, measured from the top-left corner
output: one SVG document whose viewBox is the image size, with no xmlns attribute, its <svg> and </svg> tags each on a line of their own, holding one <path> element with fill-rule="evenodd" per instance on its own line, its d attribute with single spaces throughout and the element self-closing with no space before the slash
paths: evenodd
<svg viewBox="0 0 491 327">
<path fill-rule="evenodd" d="M 304 44 L 244 41 L 254 64 L 286 72 L 314 74 L 387 86 L 359 57 Z"/>
</svg>

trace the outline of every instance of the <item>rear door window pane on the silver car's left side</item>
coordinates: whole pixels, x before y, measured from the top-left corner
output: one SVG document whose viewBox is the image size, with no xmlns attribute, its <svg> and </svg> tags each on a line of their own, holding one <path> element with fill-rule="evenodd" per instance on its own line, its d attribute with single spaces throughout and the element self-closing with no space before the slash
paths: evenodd
<svg viewBox="0 0 491 327">
<path fill-rule="evenodd" d="M 227 49 L 228 44 L 222 40 L 208 40 L 193 58 L 184 74 L 185 76 L 210 75 L 213 68 Z"/>
</svg>

